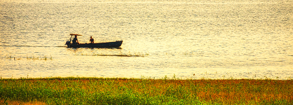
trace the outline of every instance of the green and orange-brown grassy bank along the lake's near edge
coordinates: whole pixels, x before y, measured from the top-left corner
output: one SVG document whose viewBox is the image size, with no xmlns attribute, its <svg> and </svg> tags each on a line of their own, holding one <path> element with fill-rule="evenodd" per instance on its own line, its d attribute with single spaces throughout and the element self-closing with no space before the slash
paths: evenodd
<svg viewBox="0 0 293 105">
<path fill-rule="evenodd" d="M 0 80 L 0 104 L 292 105 L 292 80 L 21 78 Z"/>
</svg>

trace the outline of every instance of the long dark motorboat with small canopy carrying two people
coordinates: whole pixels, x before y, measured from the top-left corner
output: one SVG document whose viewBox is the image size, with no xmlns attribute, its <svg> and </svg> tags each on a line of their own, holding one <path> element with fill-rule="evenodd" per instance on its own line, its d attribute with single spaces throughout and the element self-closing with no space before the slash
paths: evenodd
<svg viewBox="0 0 293 105">
<path fill-rule="evenodd" d="M 72 36 L 82 36 L 79 34 L 70 34 Z M 71 38 L 66 41 L 68 48 L 117 48 L 122 45 L 123 41 L 115 41 L 115 42 L 104 42 L 104 43 L 80 43 L 80 44 L 72 44 Z"/>
</svg>

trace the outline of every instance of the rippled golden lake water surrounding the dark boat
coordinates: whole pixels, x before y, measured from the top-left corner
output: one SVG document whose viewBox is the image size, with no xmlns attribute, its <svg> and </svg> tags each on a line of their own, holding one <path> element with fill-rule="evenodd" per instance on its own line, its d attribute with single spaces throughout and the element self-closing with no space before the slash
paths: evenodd
<svg viewBox="0 0 293 105">
<path fill-rule="evenodd" d="M 2 78 L 293 78 L 293 0 L 0 0 L 0 35 Z"/>
</svg>

